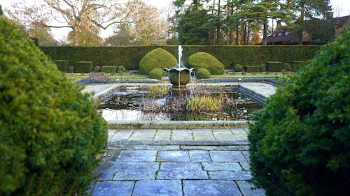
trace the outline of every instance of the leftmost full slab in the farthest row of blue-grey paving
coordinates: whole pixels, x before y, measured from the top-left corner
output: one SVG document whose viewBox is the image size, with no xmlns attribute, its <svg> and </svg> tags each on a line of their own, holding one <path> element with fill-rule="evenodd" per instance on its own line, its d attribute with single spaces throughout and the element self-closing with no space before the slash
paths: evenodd
<svg viewBox="0 0 350 196">
<path fill-rule="evenodd" d="M 157 156 L 157 151 L 120 151 L 116 161 L 128 162 L 153 162 Z"/>
</svg>

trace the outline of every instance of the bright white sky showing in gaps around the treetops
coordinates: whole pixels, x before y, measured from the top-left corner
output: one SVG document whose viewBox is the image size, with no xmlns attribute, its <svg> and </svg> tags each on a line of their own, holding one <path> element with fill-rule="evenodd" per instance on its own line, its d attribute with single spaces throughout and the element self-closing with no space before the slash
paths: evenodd
<svg viewBox="0 0 350 196">
<path fill-rule="evenodd" d="M 11 8 L 10 4 L 14 1 L 25 1 L 28 4 L 32 4 L 38 0 L 0 0 L 0 5 L 2 8 Z M 153 6 L 156 6 L 160 10 L 166 10 L 169 8 L 173 0 L 143 0 Z M 345 15 L 350 15 L 350 1 L 349 0 L 330 0 L 335 17 L 341 17 Z M 52 28 L 52 33 L 56 40 L 61 40 L 66 36 L 70 29 L 62 28 Z M 106 37 L 111 35 L 112 29 L 107 29 L 107 31 L 102 31 L 101 36 Z"/>
</svg>

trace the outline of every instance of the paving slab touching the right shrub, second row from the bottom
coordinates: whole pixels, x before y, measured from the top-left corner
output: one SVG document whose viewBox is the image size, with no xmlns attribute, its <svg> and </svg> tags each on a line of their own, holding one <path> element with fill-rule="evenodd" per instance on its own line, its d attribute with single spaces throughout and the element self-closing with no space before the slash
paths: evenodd
<svg viewBox="0 0 350 196">
<path fill-rule="evenodd" d="M 248 171 L 209 171 L 212 180 L 250 180 L 251 172 Z"/>
</svg>

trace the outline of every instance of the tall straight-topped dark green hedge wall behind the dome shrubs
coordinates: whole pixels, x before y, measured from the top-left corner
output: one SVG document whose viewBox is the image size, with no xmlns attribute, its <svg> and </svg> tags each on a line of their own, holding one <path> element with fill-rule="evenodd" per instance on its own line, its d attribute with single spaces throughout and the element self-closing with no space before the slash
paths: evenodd
<svg viewBox="0 0 350 196">
<path fill-rule="evenodd" d="M 41 47 L 51 59 L 68 59 L 75 66 L 77 61 L 93 61 L 94 66 L 125 66 L 127 70 L 138 70 L 139 61 L 151 50 L 162 48 L 178 56 L 176 45 L 122 46 L 122 47 Z M 242 66 L 258 66 L 267 61 L 304 61 L 313 59 L 320 45 L 184 45 L 183 60 L 186 65 L 188 56 L 196 52 L 207 52 L 216 57 L 225 68 L 232 64 Z"/>
</svg>

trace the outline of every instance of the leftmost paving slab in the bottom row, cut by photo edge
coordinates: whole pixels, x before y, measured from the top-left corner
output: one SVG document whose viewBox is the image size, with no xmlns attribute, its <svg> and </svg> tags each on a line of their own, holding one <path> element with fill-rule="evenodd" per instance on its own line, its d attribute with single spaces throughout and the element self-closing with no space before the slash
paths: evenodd
<svg viewBox="0 0 350 196">
<path fill-rule="evenodd" d="M 133 181 L 101 181 L 96 183 L 92 196 L 130 196 L 133 188 Z"/>
</svg>

